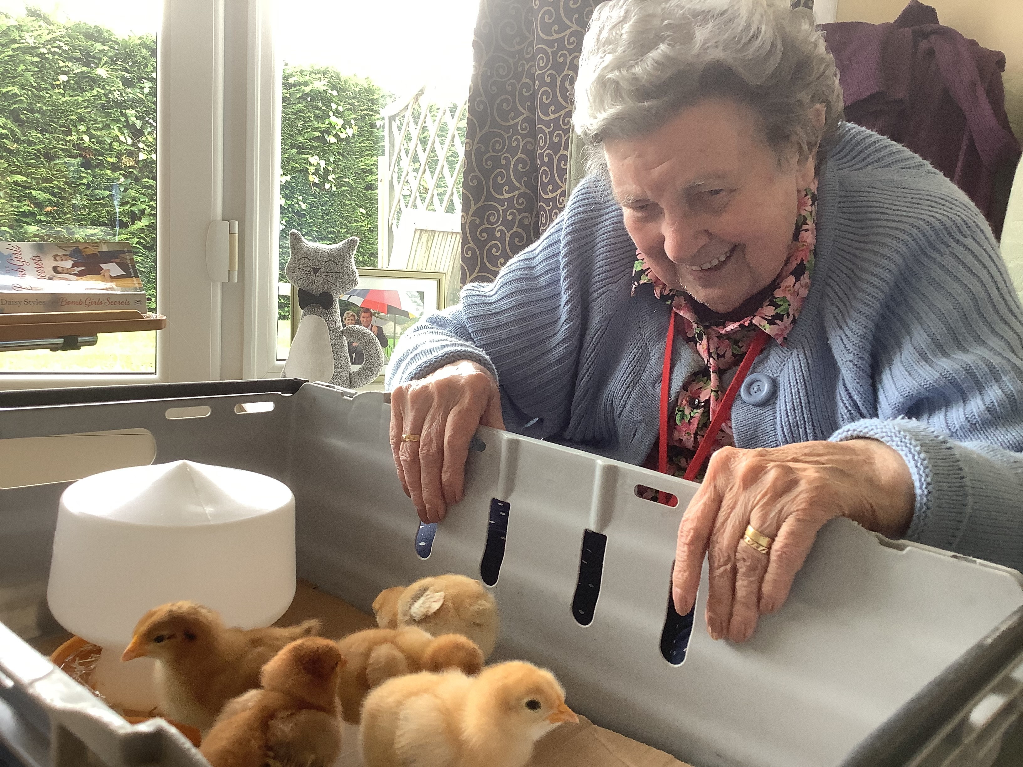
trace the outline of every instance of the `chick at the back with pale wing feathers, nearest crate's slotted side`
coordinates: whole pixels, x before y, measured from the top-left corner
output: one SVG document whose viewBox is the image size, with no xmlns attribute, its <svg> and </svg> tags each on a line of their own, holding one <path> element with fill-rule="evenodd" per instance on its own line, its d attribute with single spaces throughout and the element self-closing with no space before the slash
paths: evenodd
<svg viewBox="0 0 1023 767">
<path fill-rule="evenodd" d="M 382 628 L 418 626 L 434 636 L 466 636 L 483 650 L 484 659 L 494 651 L 500 631 L 493 594 L 480 581 L 456 573 L 386 589 L 373 600 L 373 614 Z"/>
</svg>

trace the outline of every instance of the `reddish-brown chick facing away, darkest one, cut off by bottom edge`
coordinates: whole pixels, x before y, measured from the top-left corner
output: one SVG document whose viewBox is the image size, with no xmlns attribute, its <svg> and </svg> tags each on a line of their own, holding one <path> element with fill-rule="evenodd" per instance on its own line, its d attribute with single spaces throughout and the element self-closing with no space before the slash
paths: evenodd
<svg viewBox="0 0 1023 767">
<path fill-rule="evenodd" d="M 228 702 L 199 751 L 213 767 L 326 767 L 341 754 L 335 642 L 298 639 L 263 667 L 262 689 Z"/>
</svg>

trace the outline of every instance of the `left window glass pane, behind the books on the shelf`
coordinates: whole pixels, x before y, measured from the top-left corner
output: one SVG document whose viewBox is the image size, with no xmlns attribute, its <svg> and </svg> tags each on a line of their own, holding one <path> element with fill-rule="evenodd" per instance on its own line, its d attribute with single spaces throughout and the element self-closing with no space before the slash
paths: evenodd
<svg viewBox="0 0 1023 767">
<path fill-rule="evenodd" d="M 103 243 L 93 251 L 104 254 L 128 243 L 149 311 L 161 11 L 162 0 L 0 0 L 0 240 Z M 126 276 L 117 265 L 93 274 L 94 264 L 76 263 L 61 278 Z M 0 352 L 0 372 L 152 373 L 155 333 Z"/>
</svg>

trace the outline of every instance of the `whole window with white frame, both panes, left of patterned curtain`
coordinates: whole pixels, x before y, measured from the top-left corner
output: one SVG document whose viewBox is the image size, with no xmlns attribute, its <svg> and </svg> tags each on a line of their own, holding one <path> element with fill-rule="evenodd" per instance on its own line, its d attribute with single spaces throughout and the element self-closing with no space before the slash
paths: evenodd
<svg viewBox="0 0 1023 767">
<path fill-rule="evenodd" d="M 477 10 L 477 0 L 0 0 L 10 38 L 0 45 L 0 239 L 126 240 L 169 321 L 81 351 L 0 352 L 0 388 L 278 375 L 292 227 L 325 242 L 357 234 L 364 266 L 452 264 L 456 285 L 455 261 L 417 264 L 402 242 L 426 229 L 457 247 Z M 52 44 L 30 41 L 32 25 Z M 106 47 L 81 49 L 93 38 Z M 3 67 L 30 54 L 60 65 L 33 63 L 37 88 L 15 93 Z M 27 121 L 18 104 L 29 100 L 33 115 L 63 122 Z M 49 143 L 15 172 L 4 142 L 26 137 Z M 207 271 L 207 229 L 223 219 L 240 224 L 237 284 Z M 414 236 L 403 220 L 417 222 Z"/>
</svg>

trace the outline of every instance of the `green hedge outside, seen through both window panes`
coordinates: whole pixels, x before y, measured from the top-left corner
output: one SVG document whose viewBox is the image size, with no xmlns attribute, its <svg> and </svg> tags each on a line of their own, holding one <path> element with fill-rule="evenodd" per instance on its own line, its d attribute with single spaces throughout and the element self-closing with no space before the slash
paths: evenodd
<svg viewBox="0 0 1023 767">
<path fill-rule="evenodd" d="M 120 237 L 155 299 L 157 41 L 0 12 L 0 239 Z M 376 157 L 386 94 L 332 67 L 285 66 L 281 269 L 287 231 L 362 241 L 376 263 Z M 280 307 L 288 316 L 286 301 Z"/>
</svg>

